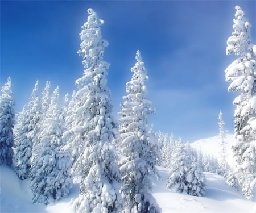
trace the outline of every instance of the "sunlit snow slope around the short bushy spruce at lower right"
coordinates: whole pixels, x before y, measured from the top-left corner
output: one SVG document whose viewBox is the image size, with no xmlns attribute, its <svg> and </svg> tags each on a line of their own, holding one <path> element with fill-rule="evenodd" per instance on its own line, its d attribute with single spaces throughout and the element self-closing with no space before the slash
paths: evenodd
<svg viewBox="0 0 256 213">
<path fill-rule="evenodd" d="M 207 189 L 204 197 L 171 193 L 164 186 L 168 171 L 159 167 L 161 180 L 154 181 L 153 195 L 163 213 L 256 213 L 256 204 L 247 201 L 235 189 L 225 183 L 222 176 L 204 173 L 207 178 Z"/>
</svg>

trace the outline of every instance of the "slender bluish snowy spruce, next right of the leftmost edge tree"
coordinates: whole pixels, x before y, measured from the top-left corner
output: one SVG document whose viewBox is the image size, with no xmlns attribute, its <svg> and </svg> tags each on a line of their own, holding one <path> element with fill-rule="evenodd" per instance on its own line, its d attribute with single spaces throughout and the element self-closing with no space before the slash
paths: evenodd
<svg viewBox="0 0 256 213">
<path fill-rule="evenodd" d="M 36 81 L 30 101 L 18 116 L 15 131 L 14 163 L 19 179 L 26 179 L 30 174 L 32 147 L 38 137 L 40 118 L 40 101 L 38 98 L 38 81 Z"/>
</svg>

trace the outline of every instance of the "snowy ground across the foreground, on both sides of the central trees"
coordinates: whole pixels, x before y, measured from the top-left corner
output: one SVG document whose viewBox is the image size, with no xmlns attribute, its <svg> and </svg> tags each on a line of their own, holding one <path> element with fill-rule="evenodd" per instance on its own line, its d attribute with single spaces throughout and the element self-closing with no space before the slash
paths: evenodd
<svg viewBox="0 0 256 213">
<path fill-rule="evenodd" d="M 152 177 L 153 195 L 163 213 L 256 213 L 256 204 L 246 201 L 243 196 L 226 185 L 224 178 L 213 173 L 205 173 L 207 189 L 204 197 L 192 197 L 184 194 L 171 193 L 165 187 L 168 170 L 158 167 L 160 180 Z M 49 204 L 32 204 L 32 195 L 28 181 L 20 181 L 12 169 L 0 166 L 0 212 L 49 212 L 70 213 L 69 202 L 79 194 L 79 186 L 73 185 L 68 198 Z"/>
</svg>

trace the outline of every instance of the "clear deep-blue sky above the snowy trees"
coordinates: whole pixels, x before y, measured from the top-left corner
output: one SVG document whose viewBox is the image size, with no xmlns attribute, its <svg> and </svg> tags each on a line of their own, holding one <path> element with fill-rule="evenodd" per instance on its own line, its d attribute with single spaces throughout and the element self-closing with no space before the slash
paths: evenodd
<svg viewBox="0 0 256 213">
<path fill-rule="evenodd" d="M 256 1 L 1 1 L 0 84 L 11 77 L 16 110 L 28 102 L 36 80 L 41 90 L 49 80 L 52 91 L 59 85 L 62 96 L 72 94 L 84 70 L 76 53 L 79 32 L 92 7 L 105 21 L 114 115 L 139 49 L 148 99 L 156 107 L 150 118 L 155 131 L 189 141 L 217 135 L 222 110 L 225 128 L 233 133 L 232 101 L 238 94 L 227 92 L 224 70 L 236 59 L 225 55 L 236 5 L 250 20 L 256 43 Z"/>
</svg>

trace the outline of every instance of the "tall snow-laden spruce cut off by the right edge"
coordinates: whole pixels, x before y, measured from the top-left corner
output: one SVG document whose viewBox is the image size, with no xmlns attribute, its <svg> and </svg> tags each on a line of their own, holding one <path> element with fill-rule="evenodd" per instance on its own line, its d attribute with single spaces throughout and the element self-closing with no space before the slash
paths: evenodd
<svg viewBox="0 0 256 213">
<path fill-rule="evenodd" d="M 251 44 L 251 24 L 240 6 L 236 6 L 233 35 L 227 41 L 226 54 L 238 55 L 225 70 L 226 81 L 231 82 L 228 91 L 239 91 L 233 101 L 234 136 L 232 146 L 236 158 L 236 176 L 247 199 L 255 198 L 256 178 L 256 46 Z"/>
</svg>

